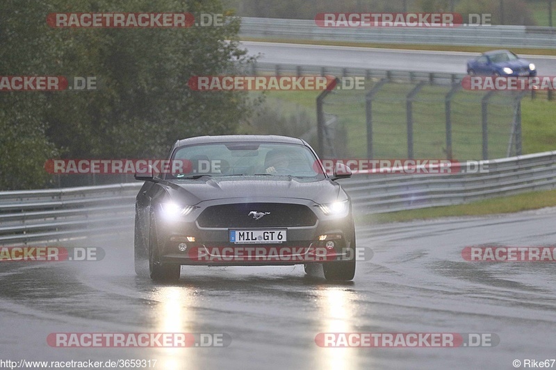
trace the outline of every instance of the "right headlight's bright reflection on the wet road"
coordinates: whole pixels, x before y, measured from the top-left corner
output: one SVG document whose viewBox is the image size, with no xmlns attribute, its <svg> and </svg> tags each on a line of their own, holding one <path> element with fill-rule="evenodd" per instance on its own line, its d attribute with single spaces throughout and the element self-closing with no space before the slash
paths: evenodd
<svg viewBox="0 0 556 370">
<path fill-rule="evenodd" d="M 350 333 L 357 308 L 355 293 L 345 287 L 322 286 L 318 291 L 320 325 L 318 333 Z M 318 333 L 314 333 L 317 335 Z M 357 369 L 358 348 L 320 348 L 316 344 L 320 369 Z"/>
</svg>

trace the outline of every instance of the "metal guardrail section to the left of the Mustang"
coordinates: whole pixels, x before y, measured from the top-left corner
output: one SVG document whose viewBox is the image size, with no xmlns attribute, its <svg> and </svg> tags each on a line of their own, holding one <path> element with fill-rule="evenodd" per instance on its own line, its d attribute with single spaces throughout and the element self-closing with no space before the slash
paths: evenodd
<svg viewBox="0 0 556 370">
<path fill-rule="evenodd" d="M 131 228 L 141 185 L 0 192 L 0 244 L 55 242 Z"/>
</svg>

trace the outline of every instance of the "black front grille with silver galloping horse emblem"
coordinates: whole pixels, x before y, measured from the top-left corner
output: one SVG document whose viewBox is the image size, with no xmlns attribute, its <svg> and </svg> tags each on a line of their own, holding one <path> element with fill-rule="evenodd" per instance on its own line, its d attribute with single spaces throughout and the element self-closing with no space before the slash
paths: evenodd
<svg viewBox="0 0 556 370">
<path fill-rule="evenodd" d="M 254 219 L 250 212 L 269 212 Z M 307 207 L 290 203 L 237 203 L 213 205 L 197 218 L 203 228 L 268 228 L 313 226 L 317 217 Z"/>
</svg>

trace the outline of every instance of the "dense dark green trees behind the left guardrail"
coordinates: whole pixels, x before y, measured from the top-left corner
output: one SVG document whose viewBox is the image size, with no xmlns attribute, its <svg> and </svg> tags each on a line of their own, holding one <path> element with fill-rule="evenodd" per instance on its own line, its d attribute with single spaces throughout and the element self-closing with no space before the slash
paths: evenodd
<svg viewBox="0 0 556 370">
<path fill-rule="evenodd" d="M 56 12 L 222 14 L 222 26 L 53 28 Z M 220 0 L 3 0 L 0 76 L 93 77 L 93 91 L 0 92 L 0 190 L 54 184 L 49 158 L 163 158 L 177 139 L 235 133 L 254 101 L 195 92 L 191 76 L 252 59 Z"/>
</svg>

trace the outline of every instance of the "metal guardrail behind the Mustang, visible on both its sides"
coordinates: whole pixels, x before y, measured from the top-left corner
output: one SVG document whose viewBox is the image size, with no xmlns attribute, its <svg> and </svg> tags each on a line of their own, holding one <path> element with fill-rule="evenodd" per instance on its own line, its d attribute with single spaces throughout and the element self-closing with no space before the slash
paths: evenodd
<svg viewBox="0 0 556 370">
<path fill-rule="evenodd" d="M 556 151 L 480 162 L 488 173 L 370 174 L 338 180 L 358 213 L 455 205 L 556 188 Z M 142 183 L 0 192 L 0 244 L 56 242 L 133 230 Z"/>
</svg>

